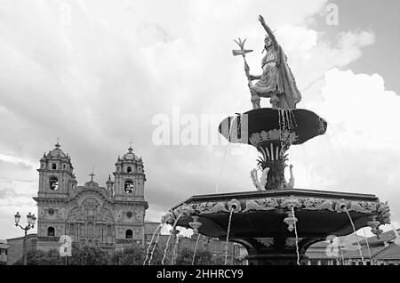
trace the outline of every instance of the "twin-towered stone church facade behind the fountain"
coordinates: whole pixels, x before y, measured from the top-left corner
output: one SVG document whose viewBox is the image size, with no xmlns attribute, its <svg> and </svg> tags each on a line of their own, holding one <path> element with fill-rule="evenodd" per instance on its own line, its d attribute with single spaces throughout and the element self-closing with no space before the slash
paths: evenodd
<svg viewBox="0 0 400 283">
<path fill-rule="evenodd" d="M 96 245 L 110 252 L 132 242 L 145 245 L 146 175 L 132 147 L 117 158 L 113 178 L 108 175 L 105 186 L 93 181 L 94 174 L 79 186 L 71 158 L 58 142 L 44 153 L 37 171 L 38 249 L 60 247 L 62 235 L 78 245 Z"/>
</svg>

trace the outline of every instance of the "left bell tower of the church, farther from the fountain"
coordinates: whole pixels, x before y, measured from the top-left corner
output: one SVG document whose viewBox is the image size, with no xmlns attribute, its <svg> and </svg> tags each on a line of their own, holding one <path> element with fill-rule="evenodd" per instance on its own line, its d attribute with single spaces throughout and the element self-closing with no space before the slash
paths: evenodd
<svg viewBox="0 0 400 283">
<path fill-rule="evenodd" d="M 71 158 L 60 150 L 57 142 L 55 149 L 44 152 L 40 159 L 39 198 L 68 198 L 72 190 L 76 189 L 76 177 Z"/>
</svg>

